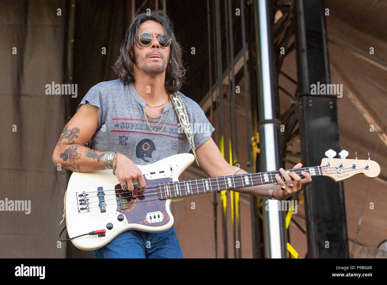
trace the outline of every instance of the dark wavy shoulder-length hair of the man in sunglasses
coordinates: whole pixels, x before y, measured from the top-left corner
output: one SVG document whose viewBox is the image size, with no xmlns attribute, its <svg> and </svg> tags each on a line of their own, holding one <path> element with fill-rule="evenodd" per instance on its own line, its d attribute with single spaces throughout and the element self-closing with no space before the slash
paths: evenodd
<svg viewBox="0 0 387 285">
<path fill-rule="evenodd" d="M 148 20 L 160 23 L 164 28 L 165 34 L 172 39 L 170 45 L 170 57 L 165 71 L 165 88 L 170 93 L 176 92 L 181 88 L 182 83 L 184 82 L 186 69 L 183 66 L 182 47 L 176 41 L 175 34 L 173 33 L 172 21 L 163 10 L 150 11 L 150 13 L 142 12 L 134 18 L 121 43 L 120 56 L 113 66 L 113 71 L 122 79 L 124 84 L 134 82 L 134 60 L 130 55 L 130 52 L 134 48 L 134 43 L 138 48 L 141 47 L 139 37 L 137 36 L 139 33 L 139 26 L 142 22 Z"/>
</svg>

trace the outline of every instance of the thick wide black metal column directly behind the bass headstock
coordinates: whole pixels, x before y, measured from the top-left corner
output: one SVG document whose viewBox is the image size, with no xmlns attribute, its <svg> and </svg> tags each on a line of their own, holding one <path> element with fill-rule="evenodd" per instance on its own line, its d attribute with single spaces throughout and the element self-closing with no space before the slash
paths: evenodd
<svg viewBox="0 0 387 285">
<path fill-rule="evenodd" d="M 337 95 L 314 96 L 312 84 L 330 84 L 325 4 L 295 0 L 300 141 L 304 165 L 318 165 L 325 151 L 340 151 Z M 348 258 L 343 182 L 315 177 L 305 185 L 308 258 Z M 332 202 L 333 201 L 333 202 Z"/>
</svg>

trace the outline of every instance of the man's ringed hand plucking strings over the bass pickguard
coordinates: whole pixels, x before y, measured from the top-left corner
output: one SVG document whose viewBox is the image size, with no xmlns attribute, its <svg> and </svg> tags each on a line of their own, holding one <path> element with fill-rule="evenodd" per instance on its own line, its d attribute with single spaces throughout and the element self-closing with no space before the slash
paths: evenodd
<svg viewBox="0 0 387 285">
<path fill-rule="evenodd" d="M 132 196 L 134 198 L 137 197 L 137 188 L 136 191 L 133 191 L 133 184 L 136 184 L 137 181 L 140 184 L 140 193 L 144 192 L 146 187 L 144 176 L 141 170 L 126 155 L 118 154 L 115 174 L 120 184 L 126 184 L 128 186 L 128 191 L 132 191 Z"/>
</svg>

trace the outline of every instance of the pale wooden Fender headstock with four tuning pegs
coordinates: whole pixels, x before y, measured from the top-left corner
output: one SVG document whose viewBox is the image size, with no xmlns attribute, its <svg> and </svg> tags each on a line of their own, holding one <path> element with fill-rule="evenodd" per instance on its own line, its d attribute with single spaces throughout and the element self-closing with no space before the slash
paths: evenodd
<svg viewBox="0 0 387 285">
<path fill-rule="evenodd" d="M 339 153 L 341 158 L 333 158 L 336 156 L 336 152 L 332 149 L 327 150 L 325 155 L 328 158 L 321 160 L 322 175 L 328 176 L 336 182 L 359 173 L 363 173 L 368 178 L 375 178 L 380 173 L 379 164 L 370 160 L 369 153 L 368 159 L 357 159 L 357 156 L 355 159 L 346 159 L 348 156 L 346 150 Z"/>
</svg>

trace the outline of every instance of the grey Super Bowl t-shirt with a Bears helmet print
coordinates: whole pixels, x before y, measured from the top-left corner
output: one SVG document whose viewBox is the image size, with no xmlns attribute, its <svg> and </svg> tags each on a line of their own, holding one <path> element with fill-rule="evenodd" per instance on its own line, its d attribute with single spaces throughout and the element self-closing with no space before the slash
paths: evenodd
<svg viewBox="0 0 387 285">
<path fill-rule="evenodd" d="M 196 150 L 215 129 L 194 100 L 181 92 L 178 94 L 187 109 Z M 192 153 L 187 136 L 180 131 L 183 128 L 173 104 L 163 130 L 158 134 L 149 130 L 144 117 L 146 101 L 137 93 L 133 83 L 126 85 L 121 79 L 98 83 L 90 88 L 79 107 L 86 101 L 98 107 L 99 130 L 91 138 L 94 150 L 118 151 L 137 165 L 151 164 L 174 154 Z M 160 123 L 161 115 L 157 118 L 147 115 L 154 131 L 161 130 L 169 107 L 170 104 L 164 106 Z"/>
</svg>

